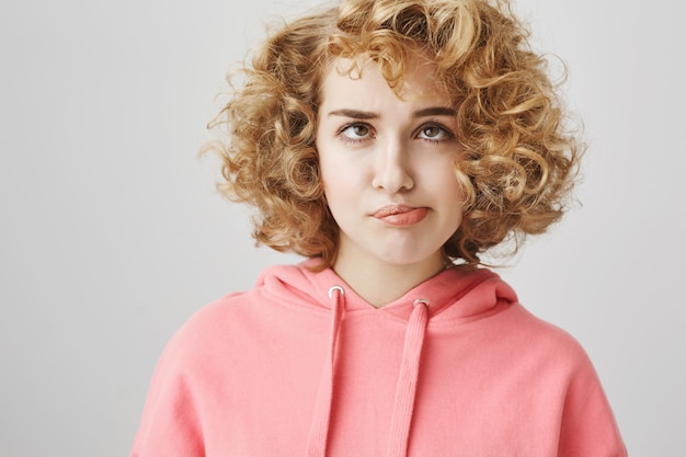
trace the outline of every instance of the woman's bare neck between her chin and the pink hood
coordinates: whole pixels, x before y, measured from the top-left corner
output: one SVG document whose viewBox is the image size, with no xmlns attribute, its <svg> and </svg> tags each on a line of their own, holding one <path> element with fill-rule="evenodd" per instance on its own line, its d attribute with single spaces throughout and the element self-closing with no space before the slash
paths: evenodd
<svg viewBox="0 0 686 457">
<path fill-rule="evenodd" d="M 445 269 L 442 255 L 413 264 L 352 262 L 339 256 L 333 270 L 357 295 L 375 308 L 381 308 L 405 295 Z"/>
</svg>

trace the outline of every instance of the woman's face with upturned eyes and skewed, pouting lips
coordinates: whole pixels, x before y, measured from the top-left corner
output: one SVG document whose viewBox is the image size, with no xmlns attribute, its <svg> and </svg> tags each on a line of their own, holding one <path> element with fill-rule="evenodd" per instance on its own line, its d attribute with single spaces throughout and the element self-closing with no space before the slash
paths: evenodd
<svg viewBox="0 0 686 457">
<path fill-rule="evenodd" d="M 442 245 L 461 222 L 456 107 L 432 84 L 433 65 L 412 64 L 401 98 L 373 61 L 354 78 L 334 62 L 322 80 L 317 149 L 340 227 L 334 269 L 345 263 L 436 272 Z"/>
</svg>

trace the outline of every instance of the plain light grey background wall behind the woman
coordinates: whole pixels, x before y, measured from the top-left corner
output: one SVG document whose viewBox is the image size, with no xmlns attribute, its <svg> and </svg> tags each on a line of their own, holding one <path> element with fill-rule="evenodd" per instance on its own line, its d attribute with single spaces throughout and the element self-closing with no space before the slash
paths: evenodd
<svg viewBox="0 0 686 457">
<path fill-rule="evenodd" d="M 174 330 L 297 260 L 254 249 L 195 152 L 229 64 L 312 3 L 2 2 L 0 455 L 127 455 Z M 682 455 L 683 24 L 667 0 L 517 4 L 591 149 L 583 207 L 501 274 L 586 347 L 630 454 Z"/>
</svg>

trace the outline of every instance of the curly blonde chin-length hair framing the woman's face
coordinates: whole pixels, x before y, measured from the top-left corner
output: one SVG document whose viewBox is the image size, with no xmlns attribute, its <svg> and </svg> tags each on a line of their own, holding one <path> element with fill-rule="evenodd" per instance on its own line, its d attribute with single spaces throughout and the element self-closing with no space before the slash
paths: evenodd
<svg viewBox="0 0 686 457">
<path fill-rule="evenodd" d="M 285 24 L 242 68 L 244 82 L 210 123 L 228 127 L 225 140 L 206 148 L 222 161 L 218 187 L 258 209 L 259 244 L 330 266 L 339 228 L 315 146 L 323 73 L 338 58 L 365 55 L 400 88 L 419 48 L 458 103 L 456 176 L 466 203 L 445 255 L 476 265 L 505 240 L 518 245 L 562 217 L 582 149 L 547 60 L 527 37 L 498 0 L 344 0 Z"/>
</svg>

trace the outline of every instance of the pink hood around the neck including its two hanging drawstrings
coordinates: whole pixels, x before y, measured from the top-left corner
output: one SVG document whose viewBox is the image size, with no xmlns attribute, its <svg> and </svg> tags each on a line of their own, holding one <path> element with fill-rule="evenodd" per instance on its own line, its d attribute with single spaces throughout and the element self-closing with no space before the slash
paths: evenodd
<svg viewBox="0 0 686 457">
<path fill-rule="evenodd" d="M 277 302 L 316 309 L 330 316 L 329 345 L 307 441 L 307 457 L 325 457 L 334 393 L 336 341 L 342 318 L 355 311 L 389 312 L 407 321 L 386 455 L 403 457 L 412 427 L 412 411 L 426 328 L 469 321 L 499 312 L 516 301 L 514 290 L 487 269 L 446 269 L 404 296 L 376 309 L 359 297 L 331 269 L 312 272 L 318 260 L 298 265 L 273 266 L 259 278 L 256 288 Z M 322 342 L 323 343 L 323 342 Z"/>
</svg>

